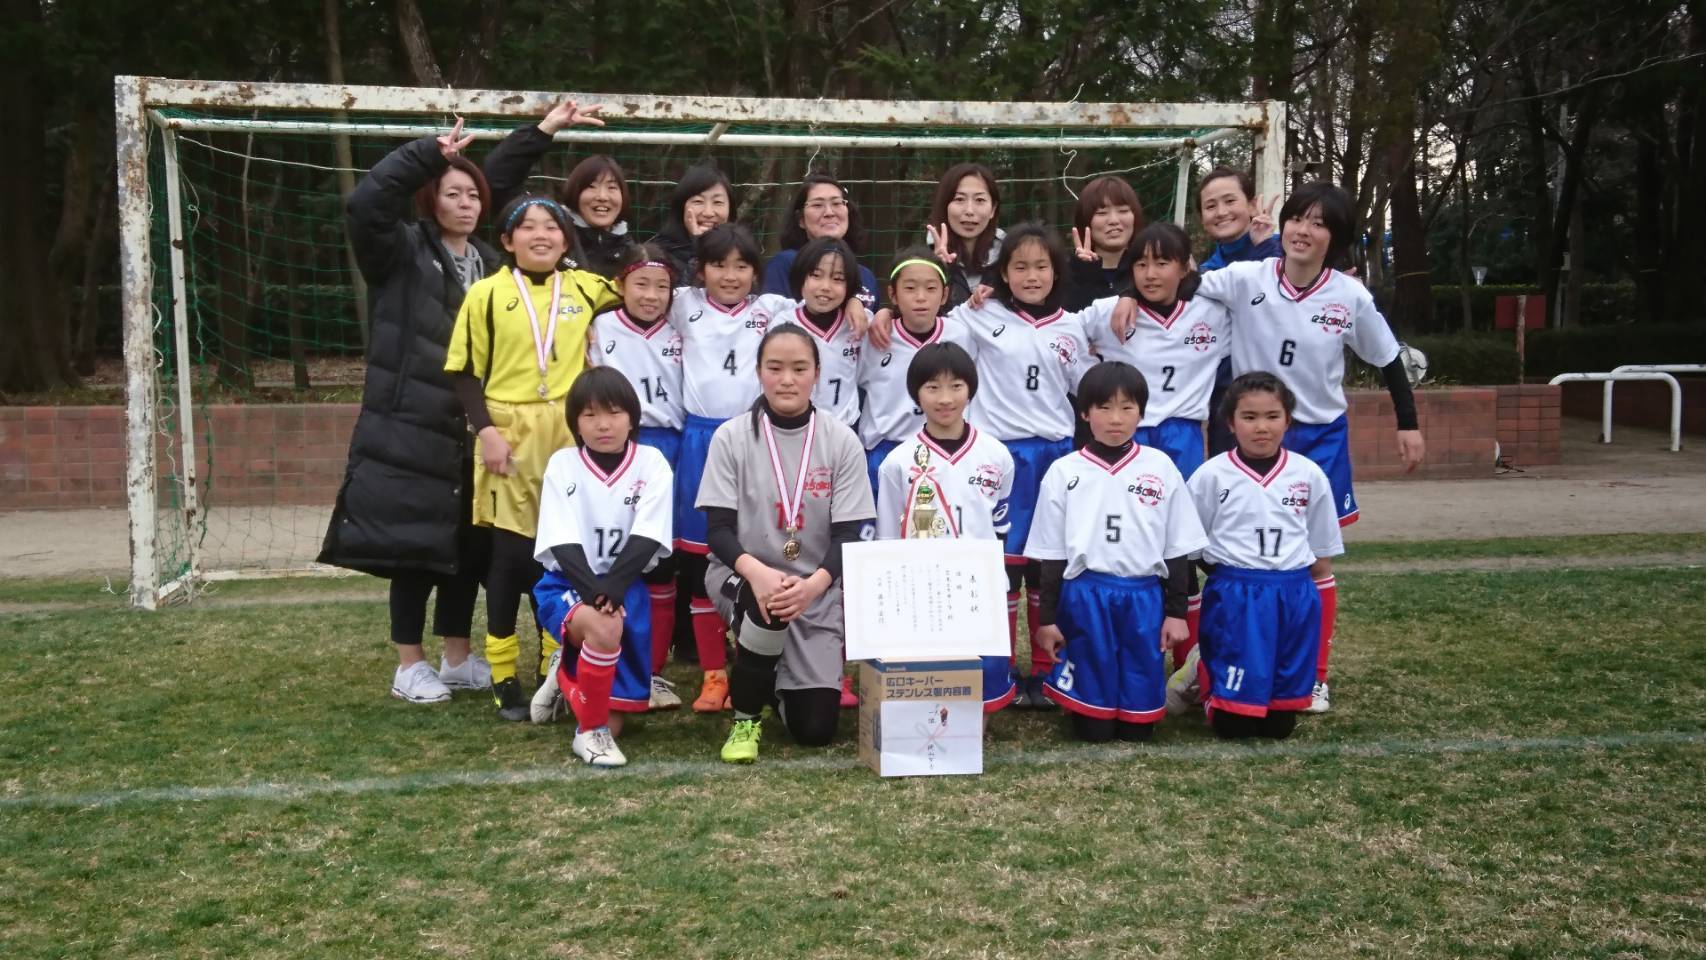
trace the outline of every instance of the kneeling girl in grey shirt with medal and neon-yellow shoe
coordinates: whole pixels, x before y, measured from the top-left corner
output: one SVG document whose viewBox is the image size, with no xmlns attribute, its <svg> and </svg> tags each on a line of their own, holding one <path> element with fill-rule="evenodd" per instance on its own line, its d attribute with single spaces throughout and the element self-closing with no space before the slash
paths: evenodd
<svg viewBox="0 0 1706 960">
<path fill-rule="evenodd" d="M 727 762 L 754 762 L 759 720 L 780 701 L 798 743 L 836 732 L 843 677 L 841 547 L 875 508 L 858 437 L 812 406 L 817 341 L 786 324 L 759 344 L 763 396 L 717 428 L 698 506 L 711 563 L 706 588 L 735 627 L 735 720 Z"/>
</svg>

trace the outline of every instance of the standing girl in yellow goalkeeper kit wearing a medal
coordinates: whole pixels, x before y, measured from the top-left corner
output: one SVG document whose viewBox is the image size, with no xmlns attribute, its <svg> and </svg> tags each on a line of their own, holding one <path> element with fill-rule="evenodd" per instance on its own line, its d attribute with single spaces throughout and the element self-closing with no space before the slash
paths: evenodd
<svg viewBox="0 0 1706 960">
<path fill-rule="evenodd" d="M 512 266 L 467 290 L 444 368 L 476 433 L 474 523 L 493 527 L 486 570 L 486 660 L 503 720 L 529 716 L 515 675 L 515 614 L 539 580 L 532 541 L 551 454 L 573 443 L 563 399 L 587 360 L 592 315 L 621 302 L 595 273 L 558 269 L 570 220 L 554 200 L 522 196 L 498 213 Z M 556 639 L 541 631 L 539 663 Z"/>
</svg>

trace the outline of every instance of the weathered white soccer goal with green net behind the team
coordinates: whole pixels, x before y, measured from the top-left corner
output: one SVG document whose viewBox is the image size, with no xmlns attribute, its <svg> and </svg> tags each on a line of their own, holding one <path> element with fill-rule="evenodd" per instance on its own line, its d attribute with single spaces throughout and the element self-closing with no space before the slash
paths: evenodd
<svg viewBox="0 0 1706 960">
<path fill-rule="evenodd" d="M 775 252 L 810 171 L 850 189 L 879 269 L 923 240 L 937 177 L 996 174 L 1001 223 L 1063 234 L 1076 193 L 1126 177 L 1148 220 L 1184 223 L 1192 171 L 1254 169 L 1281 193 L 1285 104 L 793 101 L 447 90 L 118 77 L 118 196 L 126 367 L 126 496 L 135 605 L 239 576 L 331 573 L 314 563 L 362 392 L 365 290 L 343 198 L 401 142 L 449 130 L 486 142 L 561 101 L 604 104 L 604 128 L 556 135 L 534 171 L 551 191 L 587 153 L 628 174 L 628 225 L 650 237 L 681 172 L 710 162 L 739 218 Z"/>
</svg>

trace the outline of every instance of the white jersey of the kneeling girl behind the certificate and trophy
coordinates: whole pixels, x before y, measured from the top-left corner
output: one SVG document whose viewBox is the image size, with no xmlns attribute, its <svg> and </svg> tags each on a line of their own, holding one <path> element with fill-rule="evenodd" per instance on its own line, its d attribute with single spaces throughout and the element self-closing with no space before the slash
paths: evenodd
<svg viewBox="0 0 1706 960">
<path fill-rule="evenodd" d="M 950 537 L 998 541 L 1007 537 L 1007 496 L 1013 491 L 1013 455 L 1007 445 L 976 426 L 954 454 L 920 430 L 884 457 L 877 467 L 877 539 L 892 541 L 911 529 L 908 512 L 913 484 L 921 474 L 935 481 L 937 510 Z M 920 450 L 925 466 L 920 467 Z"/>
</svg>

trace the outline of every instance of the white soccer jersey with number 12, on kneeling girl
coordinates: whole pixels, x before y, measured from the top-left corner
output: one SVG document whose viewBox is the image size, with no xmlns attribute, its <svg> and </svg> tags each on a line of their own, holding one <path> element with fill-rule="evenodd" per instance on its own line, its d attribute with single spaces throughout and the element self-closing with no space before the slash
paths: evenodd
<svg viewBox="0 0 1706 960">
<path fill-rule="evenodd" d="M 539 488 L 534 559 L 558 570 L 551 547 L 578 544 L 592 573 L 609 573 L 628 537 L 657 541 L 647 570 L 669 556 L 674 539 L 676 476 L 652 447 L 628 443 L 623 462 L 606 474 L 582 447 L 551 454 Z"/>
</svg>

